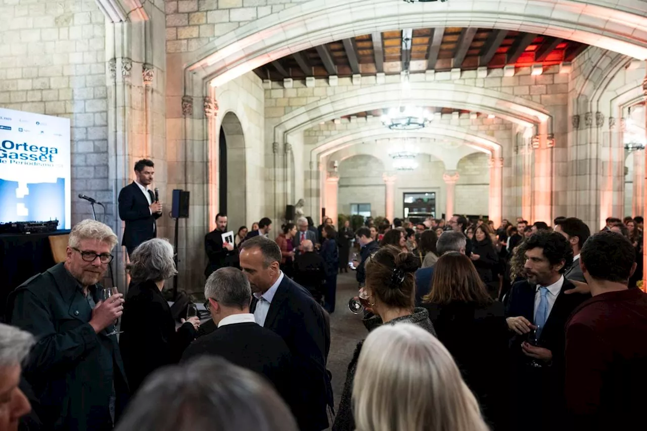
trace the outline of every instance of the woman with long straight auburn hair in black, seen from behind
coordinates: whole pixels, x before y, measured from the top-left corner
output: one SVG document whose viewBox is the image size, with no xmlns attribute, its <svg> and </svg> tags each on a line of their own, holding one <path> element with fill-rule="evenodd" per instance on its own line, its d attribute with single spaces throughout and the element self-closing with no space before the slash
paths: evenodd
<svg viewBox="0 0 647 431">
<path fill-rule="evenodd" d="M 432 285 L 422 305 L 437 337 L 452 353 L 492 428 L 503 430 L 507 419 L 501 377 L 507 369 L 509 341 L 503 304 L 490 298 L 470 258 L 458 252 L 439 258 Z"/>
</svg>

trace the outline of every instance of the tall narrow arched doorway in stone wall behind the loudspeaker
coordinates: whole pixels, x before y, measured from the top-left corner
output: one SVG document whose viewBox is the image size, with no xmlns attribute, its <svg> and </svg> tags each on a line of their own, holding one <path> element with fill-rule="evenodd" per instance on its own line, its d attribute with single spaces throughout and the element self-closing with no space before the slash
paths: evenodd
<svg viewBox="0 0 647 431">
<path fill-rule="evenodd" d="M 245 135 L 240 120 L 232 111 L 225 114 L 218 142 L 219 212 L 229 217 L 230 230 L 246 225 Z"/>
</svg>

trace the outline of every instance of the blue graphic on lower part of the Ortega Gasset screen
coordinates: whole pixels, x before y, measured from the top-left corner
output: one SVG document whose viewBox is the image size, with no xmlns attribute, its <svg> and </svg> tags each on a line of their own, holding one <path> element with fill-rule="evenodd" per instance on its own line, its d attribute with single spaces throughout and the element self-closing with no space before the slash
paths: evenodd
<svg viewBox="0 0 647 431">
<path fill-rule="evenodd" d="M 0 179 L 0 220 L 49 221 L 65 226 L 65 179 L 56 182 L 27 183 L 28 193 L 17 197 L 17 181 Z"/>
</svg>

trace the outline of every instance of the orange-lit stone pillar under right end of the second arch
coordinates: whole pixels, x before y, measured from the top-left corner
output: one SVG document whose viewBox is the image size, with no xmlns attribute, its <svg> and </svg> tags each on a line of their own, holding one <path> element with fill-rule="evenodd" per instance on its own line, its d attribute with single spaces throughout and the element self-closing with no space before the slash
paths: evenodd
<svg viewBox="0 0 647 431">
<path fill-rule="evenodd" d="M 548 135 L 548 122 L 539 124 L 539 134 L 533 138 L 534 176 L 532 178 L 532 220 L 553 224 L 553 146 Z"/>
</svg>

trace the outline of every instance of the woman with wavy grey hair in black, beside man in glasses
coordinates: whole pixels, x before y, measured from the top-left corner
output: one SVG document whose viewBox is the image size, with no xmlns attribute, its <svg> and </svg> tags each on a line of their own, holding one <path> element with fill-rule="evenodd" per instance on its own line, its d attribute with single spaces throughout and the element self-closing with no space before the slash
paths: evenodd
<svg viewBox="0 0 647 431">
<path fill-rule="evenodd" d="M 142 243 L 130 256 L 131 283 L 124 303 L 119 348 L 131 393 L 161 366 L 176 364 L 193 341 L 199 319 L 182 319 L 176 331 L 171 308 L 162 296 L 164 280 L 175 271 L 173 247 L 166 239 Z"/>
</svg>

